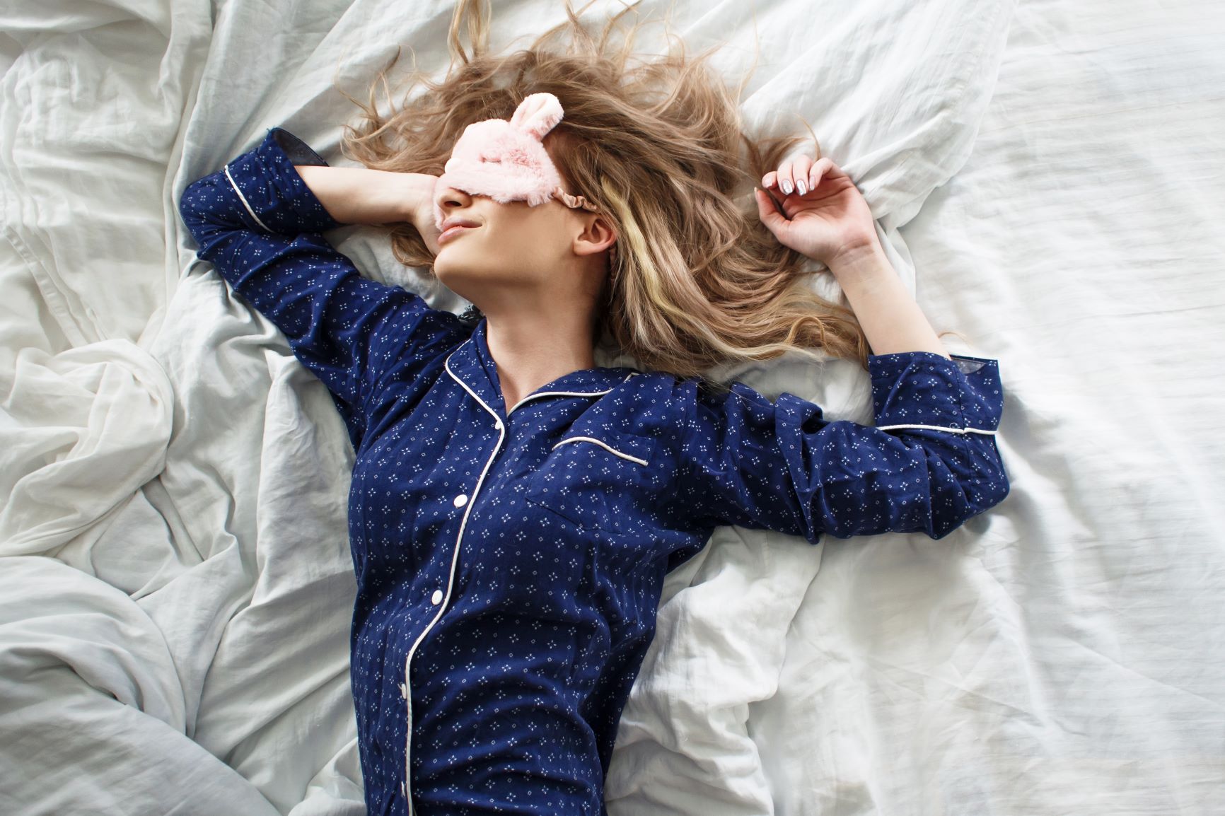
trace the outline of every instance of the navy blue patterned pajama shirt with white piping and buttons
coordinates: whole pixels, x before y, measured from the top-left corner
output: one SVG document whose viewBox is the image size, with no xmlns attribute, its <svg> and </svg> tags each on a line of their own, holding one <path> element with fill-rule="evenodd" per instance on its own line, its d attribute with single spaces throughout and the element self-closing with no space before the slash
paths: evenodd
<svg viewBox="0 0 1225 816">
<path fill-rule="evenodd" d="M 869 360 L 876 426 L 594 368 L 514 406 L 486 325 L 364 278 L 274 127 L 192 183 L 200 259 L 284 332 L 355 451 L 352 684 L 370 814 L 603 814 L 669 570 L 720 524 L 941 538 L 1001 501 L 997 363 Z"/>
</svg>

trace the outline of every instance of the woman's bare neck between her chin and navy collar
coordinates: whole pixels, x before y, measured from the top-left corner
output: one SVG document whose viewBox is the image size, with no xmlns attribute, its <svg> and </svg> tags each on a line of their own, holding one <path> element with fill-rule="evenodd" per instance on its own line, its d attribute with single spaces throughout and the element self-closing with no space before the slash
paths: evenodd
<svg viewBox="0 0 1225 816">
<path fill-rule="evenodd" d="M 571 371 L 595 368 L 590 326 L 565 310 L 485 312 L 485 339 L 497 364 L 502 402 L 519 399 Z"/>
</svg>

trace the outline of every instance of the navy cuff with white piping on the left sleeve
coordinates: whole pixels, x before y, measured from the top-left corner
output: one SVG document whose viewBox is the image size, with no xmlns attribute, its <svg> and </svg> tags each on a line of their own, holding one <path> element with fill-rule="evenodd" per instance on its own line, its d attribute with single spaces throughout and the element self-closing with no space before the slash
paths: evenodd
<svg viewBox="0 0 1225 816">
<path fill-rule="evenodd" d="M 225 176 L 251 219 L 270 233 L 296 235 L 343 227 L 301 180 L 295 164 L 328 167 L 306 142 L 272 127 L 258 147 L 225 165 Z"/>
</svg>

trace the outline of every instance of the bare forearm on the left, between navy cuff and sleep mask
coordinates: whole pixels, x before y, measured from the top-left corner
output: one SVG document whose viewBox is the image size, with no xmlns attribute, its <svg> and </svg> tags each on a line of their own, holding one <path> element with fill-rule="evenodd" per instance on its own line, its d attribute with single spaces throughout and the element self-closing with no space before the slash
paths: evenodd
<svg viewBox="0 0 1225 816">
<path fill-rule="evenodd" d="M 294 165 L 323 208 L 342 224 L 413 221 L 414 191 L 404 173 L 353 167 Z"/>
</svg>

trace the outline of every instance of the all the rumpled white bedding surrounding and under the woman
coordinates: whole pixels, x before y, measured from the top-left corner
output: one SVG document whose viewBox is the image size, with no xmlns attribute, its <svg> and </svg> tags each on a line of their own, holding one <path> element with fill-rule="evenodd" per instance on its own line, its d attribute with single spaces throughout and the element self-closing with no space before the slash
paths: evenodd
<svg viewBox="0 0 1225 816">
<path fill-rule="evenodd" d="M 495 48 L 564 20 L 494 5 Z M 398 44 L 441 77 L 450 18 L 0 4 L 0 812 L 364 811 L 353 453 L 176 202 L 273 125 L 344 164 L 333 80 L 363 93 Z M 750 130 L 806 118 L 949 349 L 1001 360 L 1013 486 L 941 542 L 720 528 L 665 586 L 609 812 L 1225 812 L 1221 12 L 729 0 L 674 21 L 691 51 L 729 43 L 729 81 L 756 34 Z M 377 230 L 330 238 L 466 305 Z M 725 374 L 871 421 L 851 364 Z"/>
</svg>

